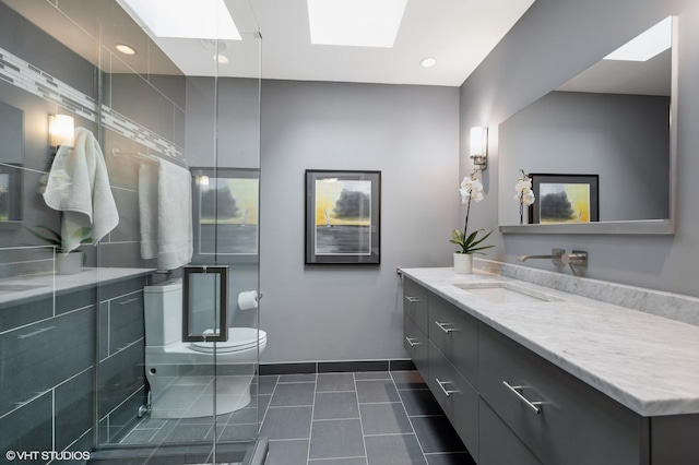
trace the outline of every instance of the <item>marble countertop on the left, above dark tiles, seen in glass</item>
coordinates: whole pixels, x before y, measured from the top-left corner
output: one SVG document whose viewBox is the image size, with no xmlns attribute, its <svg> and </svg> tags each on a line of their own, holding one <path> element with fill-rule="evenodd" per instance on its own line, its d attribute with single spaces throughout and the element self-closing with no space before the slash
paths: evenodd
<svg viewBox="0 0 699 465">
<path fill-rule="evenodd" d="M 83 269 L 80 273 L 67 275 L 40 273 L 13 276 L 0 279 L 0 306 L 36 300 L 51 295 L 54 291 L 62 294 L 80 290 L 97 284 L 151 274 L 154 271 L 151 269 L 95 267 Z"/>
</svg>

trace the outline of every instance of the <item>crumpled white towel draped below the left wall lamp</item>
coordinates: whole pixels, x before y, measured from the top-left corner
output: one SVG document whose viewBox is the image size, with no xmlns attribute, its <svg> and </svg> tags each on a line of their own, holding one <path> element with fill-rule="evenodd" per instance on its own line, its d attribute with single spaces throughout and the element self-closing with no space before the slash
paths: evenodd
<svg viewBox="0 0 699 465">
<path fill-rule="evenodd" d="M 80 246 L 81 229 L 92 227 L 93 243 L 119 224 L 109 176 L 97 140 L 85 128 L 75 128 L 73 147 L 61 145 L 49 171 L 44 201 L 63 212 L 63 253 Z"/>
</svg>

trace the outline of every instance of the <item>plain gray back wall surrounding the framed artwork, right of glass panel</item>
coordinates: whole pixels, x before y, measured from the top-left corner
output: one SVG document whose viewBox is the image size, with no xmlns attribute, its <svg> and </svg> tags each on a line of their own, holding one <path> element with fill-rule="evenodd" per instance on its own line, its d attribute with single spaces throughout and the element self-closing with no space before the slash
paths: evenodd
<svg viewBox="0 0 699 465">
<path fill-rule="evenodd" d="M 396 266 L 451 263 L 457 87 L 264 81 L 263 362 L 405 358 Z M 381 264 L 304 264 L 305 169 L 381 170 Z"/>
</svg>

